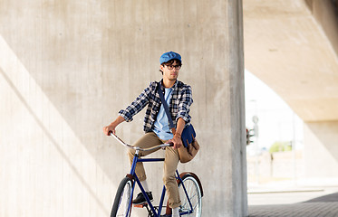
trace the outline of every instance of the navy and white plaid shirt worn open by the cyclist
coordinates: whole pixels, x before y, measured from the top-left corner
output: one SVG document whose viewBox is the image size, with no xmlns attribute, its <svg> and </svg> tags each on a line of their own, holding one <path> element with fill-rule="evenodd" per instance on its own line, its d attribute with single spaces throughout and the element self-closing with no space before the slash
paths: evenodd
<svg viewBox="0 0 338 217">
<path fill-rule="evenodd" d="M 162 81 L 162 80 L 161 80 Z M 160 82 L 161 82 L 160 81 Z M 140 96 L 135 99 L 127 109 L 122 109 L 119 114 L 127 122 L 130 122 L 134 115 L 140 112 L 141 109 L 148 105 L 146 114 L 144 117 L 143 130 L 150 132 L 154 128 L 154 122 L 158 116 L 161 101 L 157 89 L 159 82 L 151 82 L 150 86 L 142 91 Z M 164 91 L 162 86 L 161 90 Z M 192 91 L 191 87 L 183 82 L 177 80 L 172 87 L 173 91 L 171 94 L 169 110 L 171 113 L 172 122 L 176 126 L 177 120 L 183 118 L 186 122 L 186 126 L 190 124 L 191 117 L 189 116 L 190 105 L 192 104 Z M 168 123 L 169 125 L 169 123 Z"/>
</svg>

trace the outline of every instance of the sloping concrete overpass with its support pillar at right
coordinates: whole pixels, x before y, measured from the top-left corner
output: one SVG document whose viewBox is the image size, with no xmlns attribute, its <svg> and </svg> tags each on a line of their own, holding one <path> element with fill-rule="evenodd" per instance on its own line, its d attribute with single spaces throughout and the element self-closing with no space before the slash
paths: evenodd
<svg viewBox="0 0 338 217">
<path fill-rule="evenodd" d="M 244 1 L 246 69 L 304 120 L 306 175 L 338 176 L 338 1 Z"/>
</svg>

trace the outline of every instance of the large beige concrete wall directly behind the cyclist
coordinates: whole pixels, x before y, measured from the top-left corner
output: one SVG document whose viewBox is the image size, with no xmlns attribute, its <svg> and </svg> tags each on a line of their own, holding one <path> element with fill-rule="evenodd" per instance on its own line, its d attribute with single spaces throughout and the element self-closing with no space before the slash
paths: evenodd
<svg viewBox="0 0 338 217">
<path fill-rule="evenodd" d="M 202 146 L 179 169 L 200 176 L 203 216 L 245 216 L 241 8 L 0 0 L 0 216 L 108 216 L 129 164 L 102 127 L 160 79 L 168 51 L 183 57 L 179 79 L 193 88 Z M 127 142 L 142 134 L 143 114 L 118 128 Z M 146 169 L 159 197 L 162 165 Z"/>
</svg>

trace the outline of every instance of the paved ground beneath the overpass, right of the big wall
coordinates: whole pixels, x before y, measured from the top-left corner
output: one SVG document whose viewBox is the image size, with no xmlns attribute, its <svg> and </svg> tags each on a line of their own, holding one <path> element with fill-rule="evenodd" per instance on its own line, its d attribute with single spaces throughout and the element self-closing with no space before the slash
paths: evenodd
<svg viewBox="0 0 338 217">
<path fill-rule="evenodd" d="M 338 182 L 248 184 L 249 217 L 338 217 Z"/>
</svg>

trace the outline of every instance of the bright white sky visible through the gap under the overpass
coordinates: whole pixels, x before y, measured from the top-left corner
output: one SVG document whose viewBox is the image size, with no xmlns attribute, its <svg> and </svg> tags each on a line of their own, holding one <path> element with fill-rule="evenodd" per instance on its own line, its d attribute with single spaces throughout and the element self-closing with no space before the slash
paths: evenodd
<svg viewBox="0 0 338 217">
<path fill-rule="evenodd" d="M 254 147 L 268 149 L 275 142 L 294 141 L 295 148 L 303 147 L 303 121 L 266 83 L 245 71 L 246 127 L 254 127 L 258 118 L 256 144 L 247 146 L 248 154 Z"/>
</svg>

